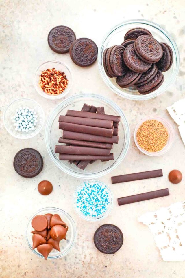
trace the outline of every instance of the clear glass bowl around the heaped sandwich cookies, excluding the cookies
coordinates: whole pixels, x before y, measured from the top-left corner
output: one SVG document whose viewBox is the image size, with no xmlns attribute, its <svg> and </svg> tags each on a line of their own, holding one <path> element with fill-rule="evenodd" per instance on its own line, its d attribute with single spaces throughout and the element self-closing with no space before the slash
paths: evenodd
<svg viewBox="0 0 185 278">
<path fill-rule="evenodd" d="M 146 95 L 139 94 L 139 92 L 134 89 L 134 86 L 129 88 L 119 87 L 119 85 L 116 83 L 116 78 L 109 78 L 103 68 L 104 50 L 113 45 L 120 45 L 124 41 L 125 33 L 135 27 L 143 27 L 149 30 L 155 39 L 157 39 L 159 42 L 167 43 L 173 51 L 173 64 L 167 72 L 163 73 L 164 82 L 156 91 Z M 180 56 L 174 39 L 166 30 L 156 23 L 144 19 L 133 19 L 114 26 L 103 38 L 101 46 L 98 50 L 98 66 L 103 81 L 114 93 L 122 96 L 123 98 L 131 100 L 148 100 L 162 94 L 175 81 L 175 78 L 179 72 Z"/>
</svg>

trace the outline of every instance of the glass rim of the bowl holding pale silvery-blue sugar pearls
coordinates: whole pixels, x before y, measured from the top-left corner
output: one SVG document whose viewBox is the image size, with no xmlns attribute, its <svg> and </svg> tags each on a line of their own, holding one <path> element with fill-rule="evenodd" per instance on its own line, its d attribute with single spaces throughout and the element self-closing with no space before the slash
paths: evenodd
<svg viewBox="0 0 185 278">
<path fill-rule="evenodd" d="M 32 133 L 29 133 L 29 137 L 27 137 L 27 138 L 19 138 L 19 137 L 17 137 L 17 136 L 15 136 L 9 129 L 8 129 L 8 127 L 7 127 L 7 125 L 6 125 L 6 120 L 5 120 L 5 117 L 6 117 L 6 112 L 7 112 L 7 110 L 8 110 L 8 108 L 14 103 L 14 102 L 16 102 L 16 101 L 19 101 L 19 100 L 31 100 L 31 101 L 33 101 L 34 103 L 36 103 L 36 105 L 38 105 L 38 107 L 39 107 L 39 109 L 40 109 L 40 111 L 41 111 L 41 113 L 42 113 L 42 116 L 43 116 L 43 121 L 42 121 L 42 123 L 41 123 L 41 125 L 40 125 L 40 128 L 38 129 L 38 131 L 34 134 L 34 135 L 32 135 Z M 5 129 L 8 131 L 8 133 L 10 134 L 10 135 L 12 135 L 14 138 L 17 138 L 17 139 L 23 139 L 23 140 L 25 140 L 25 139 L 30 139 L 30 138 L 33 138 L 34 136 L 36 136 L 39 132 L 40 132 L 40 130 L 42 129 L 42 127 L 43 127 L 43 125 L 44 125 L 44 121 L 45 121 L 45 113 L 44 113 L 44 110 L 42 109 L 42 107 L 40 106 L 40 104 L 36 101 L 36 100 L 34 100 L 34 99 L 32 99 L 32 98 L 16 98 L 16 99 L 14 99 L 11 103 L 9 103 L 8 104 L 8 106 L 6 107 L 6 109 L 5 109 L 5 111 L 4 111 L 4 114 L 3 114 L 3 123 L 4 123 L 4 126 L 5 126 Z M 26 133 L 25 133 L 26 134 Z"/>
</svg>

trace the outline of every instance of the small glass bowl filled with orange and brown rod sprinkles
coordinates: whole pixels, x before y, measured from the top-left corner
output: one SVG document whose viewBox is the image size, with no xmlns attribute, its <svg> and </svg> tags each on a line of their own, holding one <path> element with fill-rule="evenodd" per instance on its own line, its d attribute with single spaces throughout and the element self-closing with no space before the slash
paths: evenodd
<svg viewBox="0 0 185 278">
<path fill-rule="evenodd" d="M 60 99 L 69 93 L 73 85 L 73 76 L 71 69 L 64 63 L 48 61 L 37 68 L 33 83 L 41 96 Z"/>
</svg>

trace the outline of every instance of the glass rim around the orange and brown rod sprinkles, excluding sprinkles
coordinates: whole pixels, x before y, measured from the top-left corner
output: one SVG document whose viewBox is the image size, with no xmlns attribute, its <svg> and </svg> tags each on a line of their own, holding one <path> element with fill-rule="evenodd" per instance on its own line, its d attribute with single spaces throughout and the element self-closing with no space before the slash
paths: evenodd
<svg viewBox="0 0 185 278">
<path fill-rule="evenodd" d="M 47 64 L 47 63 L 58 63 L 58 64 L 61 64 L 63 65 L 64 67 L 66 67 L 66 69 L 69 71 L 69 73 L 71 74 L 71 83 L 70 83 L 70 86 L 68 85 L 67 88 L 66 88 L 66 92 L 64 91 L 62 94 L 59 94 L 59 95 L 56 95 L 56 96 L 50 96 L 50 95 L 47 95 L 45 94 L 44 92 L 41 93 L 40 90 L 37 88 L 36 86 L 36 74 L 38 72 L 38 70 L 40 69 L 40 67 L 42 67 L 43 65 Z M 66 65 L 65 63 L 63 62 L 60 62 L 58 60 L 50 60 L 50 61 L 46 61 L 44 63 L 42 63 L 41 65 L 39 65 L 35 71 L 35 74 L 34 74 L 34 78 L 33 78 L 33 84 L 34 84 L 34 88 L 36 89 L 37 93 L 44 97 L 44 98 L 47 98 L 47 99 L 52 99 L 52 100 L 56 100 L 56 99 L 61 99 L 61 98 L 64 98 L 71 90 L 72 86 L 73 86 L 73 74 L 72 74 L 72 71 L 71 71 L 71 68 Z"/>
</svg>

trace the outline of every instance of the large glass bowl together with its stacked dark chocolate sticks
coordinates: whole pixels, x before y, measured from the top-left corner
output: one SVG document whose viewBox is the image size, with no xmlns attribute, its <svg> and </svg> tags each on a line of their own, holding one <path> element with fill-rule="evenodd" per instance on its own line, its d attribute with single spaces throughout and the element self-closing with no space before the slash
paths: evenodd
<svg viewBox="0 0 185 278">
<path fill-rule="evenodd" d="M 121 163 L 130 129 L 114 102 L 79 94 L 62 101 L 51 113 L 45 141 L 49 156 L 62 171 L 77 178 L 97 178 Z"/>
</svg>

